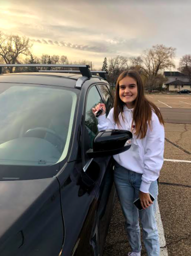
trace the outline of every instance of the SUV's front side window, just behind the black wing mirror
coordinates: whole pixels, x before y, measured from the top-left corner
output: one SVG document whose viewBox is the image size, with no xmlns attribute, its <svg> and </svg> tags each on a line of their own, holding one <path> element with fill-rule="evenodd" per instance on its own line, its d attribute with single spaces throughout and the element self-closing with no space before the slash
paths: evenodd
<svg viewBox="0 0 191 256">
<path fill-rule="evenodd" d="M 85 110 L 85 148 L 93 148 L 93 139 L 98 134 L 98 121 L 92 113 L 92 108 L 103 103 L 101 96 L 95 86 L 91 87 L 88 92 L 86 110 Z"/>
</svg>

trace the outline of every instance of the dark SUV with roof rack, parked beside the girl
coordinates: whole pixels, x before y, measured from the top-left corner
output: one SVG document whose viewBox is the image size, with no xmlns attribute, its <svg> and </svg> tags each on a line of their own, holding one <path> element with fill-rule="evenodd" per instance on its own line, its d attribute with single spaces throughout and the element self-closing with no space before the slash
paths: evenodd
<svg viewBox="0 0 191 256">
<path fill-rule="evenodd" d="M 111 156 L 132 134 L 98 133 L 92 107 L 105 103 L 108 114 L 110 86 L 104 73 L 72 67 L 80 71 L 0 75 L 0 256 L 102 255 Z"/>
</svg>

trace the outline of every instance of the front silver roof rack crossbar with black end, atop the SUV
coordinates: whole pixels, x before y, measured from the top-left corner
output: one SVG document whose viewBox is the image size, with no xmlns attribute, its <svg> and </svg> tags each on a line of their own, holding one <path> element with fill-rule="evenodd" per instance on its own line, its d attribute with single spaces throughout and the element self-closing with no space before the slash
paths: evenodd
<svg viewBox="0 0 191 256">
<path fill-rule="evenodd" d="M 55 68 L 79 68 L 82 76 L 88 78 L 92 77 L 89 70 L 89 65 L 62 65 L 62 64 L 0 64 L 0 74 L 2 72 L 2 67 L 55 67 Z"/>
</svg>

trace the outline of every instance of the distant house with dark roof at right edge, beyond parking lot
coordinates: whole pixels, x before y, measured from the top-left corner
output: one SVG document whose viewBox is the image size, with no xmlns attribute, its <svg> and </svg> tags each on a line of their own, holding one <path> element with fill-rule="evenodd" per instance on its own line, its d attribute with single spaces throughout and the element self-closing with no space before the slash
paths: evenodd
<svg viewBox="0 0 191 256">
<path fill-rule="evenodd" d="M 187 75 L 178 71 L 165 71 L 166 91 L 182 91 L 184 89 L 191 90 L 191 80 Z"/>
</svg>

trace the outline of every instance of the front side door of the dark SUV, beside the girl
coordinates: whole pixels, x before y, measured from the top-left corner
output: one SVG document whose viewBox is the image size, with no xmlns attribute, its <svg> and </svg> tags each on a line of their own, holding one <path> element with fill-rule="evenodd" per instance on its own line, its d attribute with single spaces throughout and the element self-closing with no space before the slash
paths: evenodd
<svg viewBox="0 0 191 256">
<path fill-rule="evenodd" d="M 97 186 L 97 213 L 91 232 L 90 243 L 92 243 L 96 255 L 102 255 L 115 196 L 115 188 L 113 186 L 113 159 L 111 156 L 89 159 L 86 152 L 93 147 L 93 139 L 98 134 L 98 121 L 92 113 L 92 108 L 98 103 L 106 103 L 106 112 L 108 114 L 110 108 L 113 106 L 113 102 L 109 103 L 108 99 L 111 96 L 107 87 L 101 85 L 101 89 L 105 93 L 104 95 L 101 93 L 101 90 L 98 91 L 97 87 L 99 85 L 90 87 L 86 95 L 83 165 L 85 174 Z"/>
</svg>

